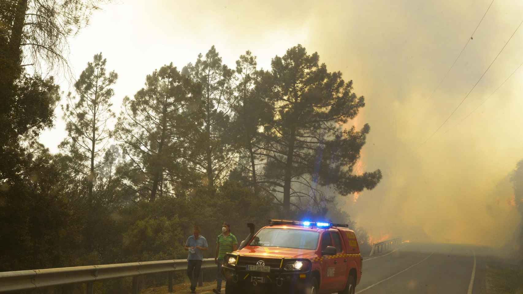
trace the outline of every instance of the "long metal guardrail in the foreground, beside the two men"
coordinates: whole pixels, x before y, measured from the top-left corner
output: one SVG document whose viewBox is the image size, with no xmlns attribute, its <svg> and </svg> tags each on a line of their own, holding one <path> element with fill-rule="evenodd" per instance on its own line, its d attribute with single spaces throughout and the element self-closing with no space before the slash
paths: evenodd
<svg viewBox="0 0 523 294">
<path fill-rule="evenodd" d="M 215 266 L 214 258 L 204 258 L 201 268 Z M 86 283 L 86 293 L 93 294 L 95 281 L 132 277 L 132 293 L 138 294 L 138 277 L 156 273 L 169 274 L 168 289 L 172 292 L 174 273 L 186 270 L 187 260 L 165 260 L 0 272 L 0 293 Z M 200 272 L 200 286 L 202 277 L 203 274 Z"/>
</svg>

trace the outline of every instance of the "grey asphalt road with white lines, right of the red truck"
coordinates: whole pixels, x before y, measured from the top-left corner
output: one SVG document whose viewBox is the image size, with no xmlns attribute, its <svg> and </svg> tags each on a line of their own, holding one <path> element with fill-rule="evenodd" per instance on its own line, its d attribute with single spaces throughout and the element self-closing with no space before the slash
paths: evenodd
<svg viewBox="0 0 523 294">
<path fill-rule="evenodd" d="M 487 253 L 467 245 L 404 243 L 392 253 L 363 259 L 356 294 L 483 294 Z"/>
</svg>

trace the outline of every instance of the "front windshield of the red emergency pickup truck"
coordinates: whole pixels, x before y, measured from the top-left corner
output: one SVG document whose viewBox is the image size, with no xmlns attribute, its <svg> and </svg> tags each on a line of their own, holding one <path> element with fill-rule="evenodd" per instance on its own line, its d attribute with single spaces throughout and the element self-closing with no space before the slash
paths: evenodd
<svg viewBox="0 0 523 294">
<path fill-rule="evenodd" d="M 266 228 L 261 229 L 249 245 L 314 250 L 320 234 L 313 231 Z"/>
</svg>

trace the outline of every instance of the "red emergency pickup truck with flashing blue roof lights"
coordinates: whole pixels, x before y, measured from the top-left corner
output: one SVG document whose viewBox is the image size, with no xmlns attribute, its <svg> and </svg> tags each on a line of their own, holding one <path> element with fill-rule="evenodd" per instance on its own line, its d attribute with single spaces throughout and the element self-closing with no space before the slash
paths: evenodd
<svg viewBox="0 0 523 294">
<path fill-rule="evenodd" d="M 361 278 L 358 241 L 347 225 L 271 219 L 223 261 L 225 293 L 354 294 Z"/>
</svg>

